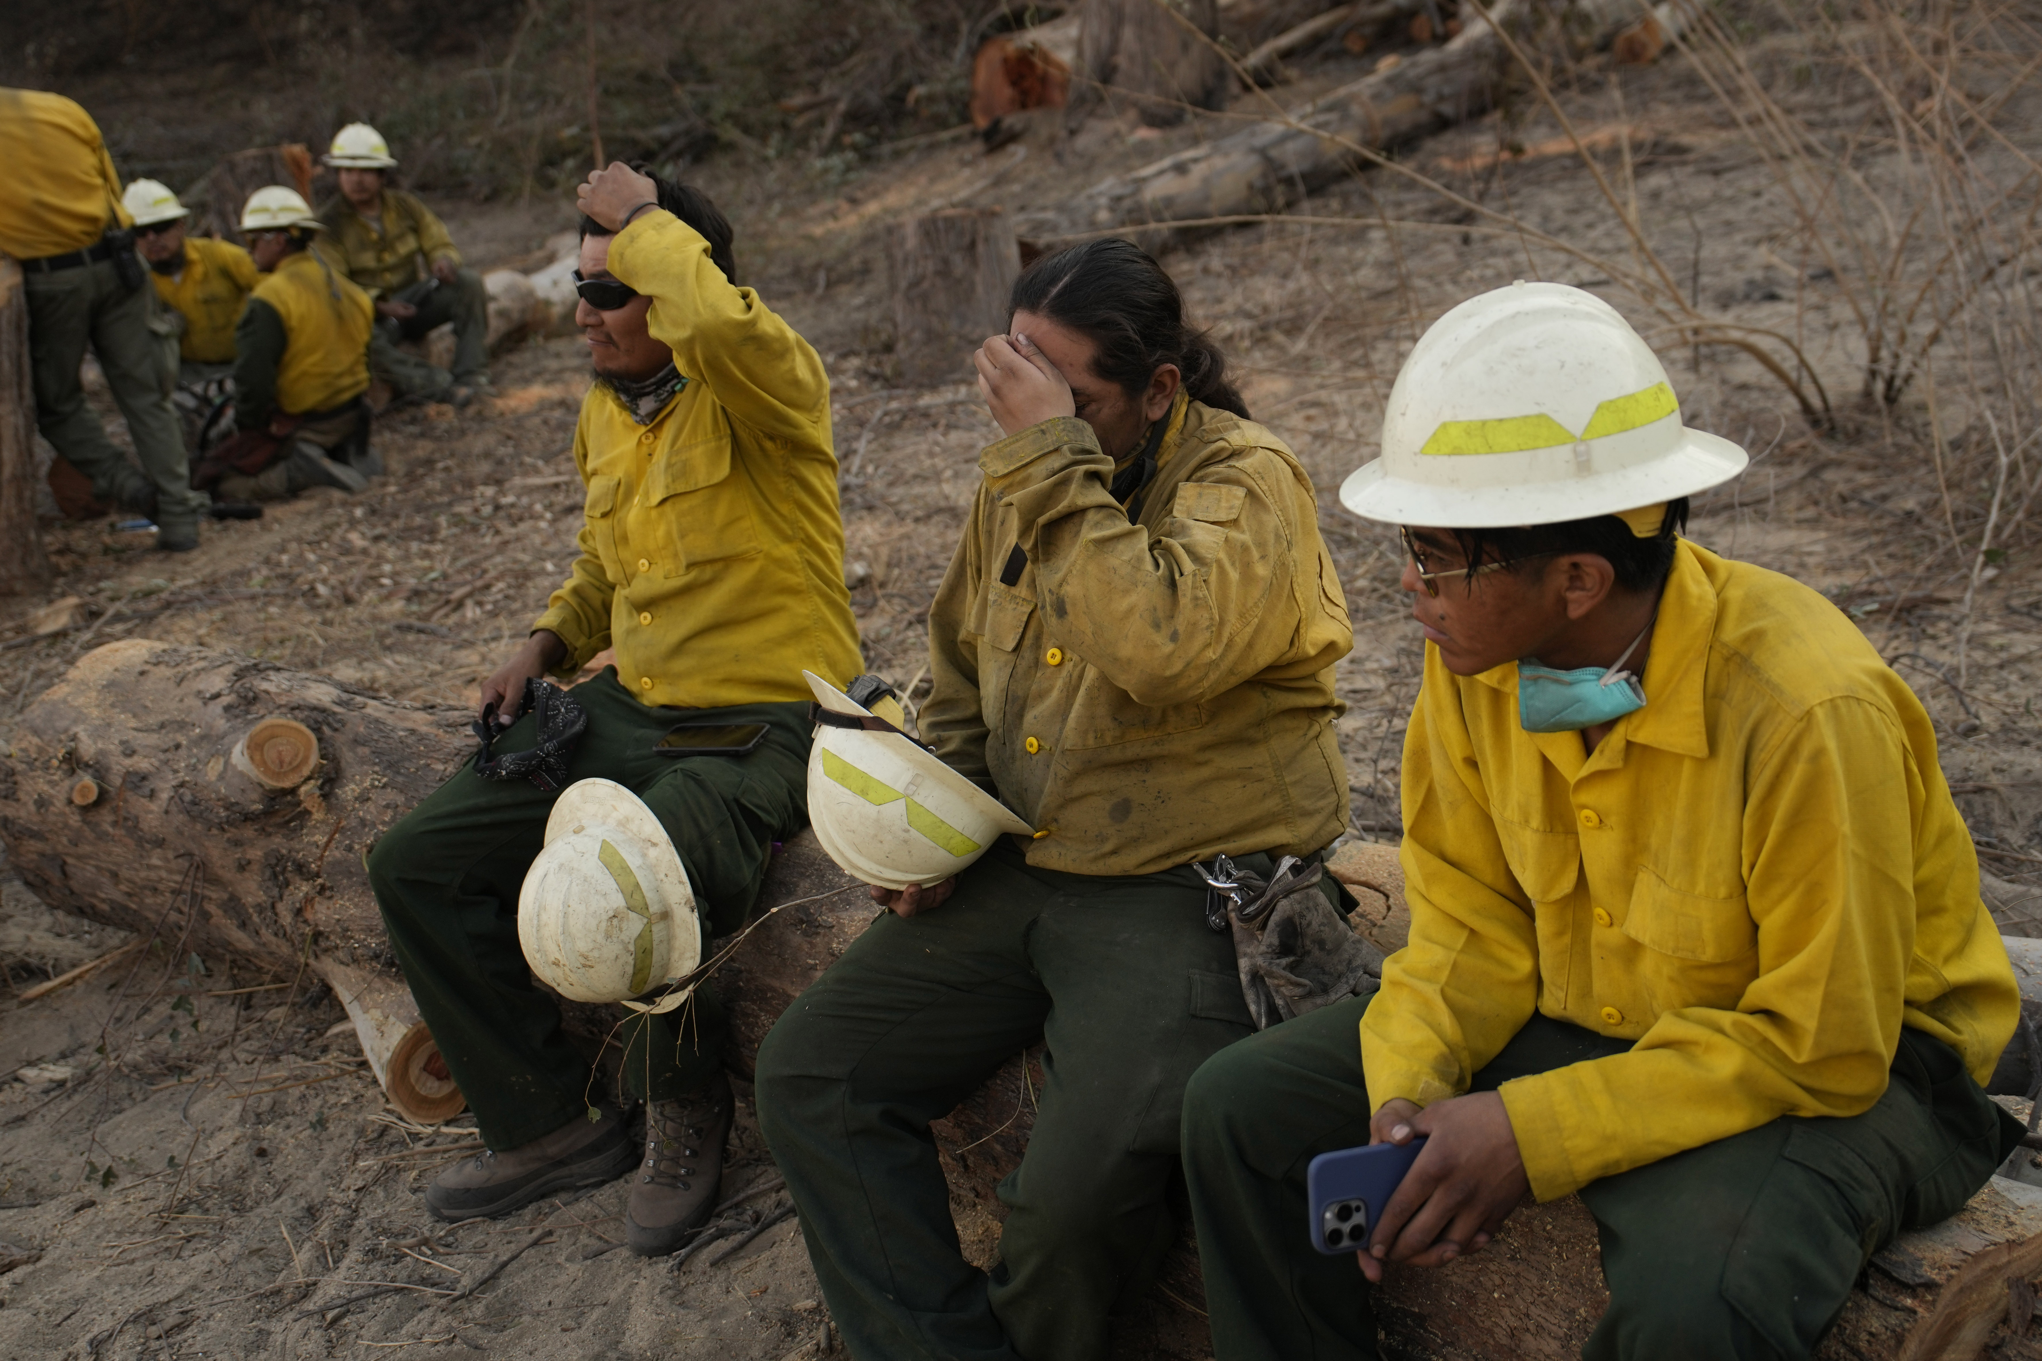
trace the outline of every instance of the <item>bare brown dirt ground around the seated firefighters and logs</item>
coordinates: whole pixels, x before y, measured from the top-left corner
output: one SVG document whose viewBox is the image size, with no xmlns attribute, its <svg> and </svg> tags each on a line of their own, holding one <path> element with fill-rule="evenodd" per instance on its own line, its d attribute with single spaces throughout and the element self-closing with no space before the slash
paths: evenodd
<svg viewBox="0 0 2042 1361">
<path fill-rule="evenodd" d="M 1340 75 L 1319 71 L 1282 98 Z M 1789 208 L 1699 82 L 1672 65 L 1627 73 L 1619 104 L 1585 75 L 1564 106 L 1601 145 L 1621 133 L 1640 218 L 1691 269 L 1695 296 L 1736 322 L 1807 337 L 1815 367 L 1848 402 L 1858 373 L 1844 306 L 1819 271 L 1783 257 Z M 976 453 L 996 435 L 962 382 L 962 355 L 956 386 L 905 390 L 892 380 L 880 229 L 935 202 L 1052 202 L 1225 129 L 1215 116 L 1148 137 L 1099 118 L 1066 147 L 1031 135 L 988 157 L 968 141 L 937 141 L 827 178 L 786 163 L 704 167 L 702 184 L 739 229 L 745 280 L 831 367 L 845 561 L 872 669 L 919 679 L 923 614 L 976 486 Z M 1493 114 L 1425 143 L 1409 163 L 1462 192 L 1507 198 L 1521 220 L 1589 255 L 1623 257 L 1621 224 L 1601 210 L 1581 161 L 1550 151 L 1556 137 L 1544 116 Z M 1527 153 L 1499 163 L 1505 141 Z M 2026 145 L 2034 153 L 2032 135 Z M 1166 263 L 1229 349 L 1256 418 L 1297 449 L 1319 490 L 1356 624 L 1338 671 L 1354 830 L 1391 841 L 1421 647 L 1397 586 L 1395 535 L 1340 510 L 1335 488 L 1374 457 L 1389 382 L 1429 318 L 1515 278 L 1609 280 L 1529 239 L 1478 231 L 1393 175 L 1321 194 L 1309 212 L 1348 220 L 1239 229 Z M 474 251 L 480 263 L 529 267 L 570 218 L 562 204 L 449 204 L 449 220 L 457 237 L 486 245 Z M 1848 408 L 1817 435 L 1746 357 L 1666 353 L 1687 420 L 1754 455 L 1744 477 L 1697 498 L 1691 537 L 1793 573 L 1858 618 L 1936 720 L 1995 916 L 2030 935 L 2042 918 L 2042 579 L 2022 551 L 2028 541 L 2009 539 L 2007 553 L 1975 571 L 1960 551 L 1973 520 L 1946 510 L 1938 492 L 1922 398 L 1893 412 Z M 194 555 L 153 553 L 110 522 L 49 526 L 57 579 L 0 622 L 0 739 L 4 720 L 82 651 L 123 637 L 237 649 L 398 698 L 472 698 L 564 575 L 582 504 L 570 457 L 588 386 L 578 343 L 523 345 L 496 361 L 496 384 L 492 402 L 464 412 L 386 414 L 376 441 L 390 471 L 361 496 L 314 492 L 257 522 L 210 526 Z M 65 596 L 82 600 L 76 626 L 33 637 L 33 610 Z M 116 943 L 6 886 L 0 951 L 16 992 Z M 406 1128 L 380 1100 L 339 1006 L 302 977 L 129 955 L 41 1000 L 0 1002 L 8 1069 L 6 1355 L 437 1347 L 749 1361 L 827 1349 L 792 1222 L 680 1271 L 617 1247 L 625 1183 L 502 1224 L 433 1224 L 421 1188 L 474 1147 L 474 1132 L 461 1120 Z M 725 1183 L 733 1192 L 772 1177 L 745 1096 L 741 1088 Z M 770 1218 L 776 1204 L 766 1192 L 745 1208 Z M 541 1228 L 547 1237 L 531 1245 Z M 529 1251 L 488 1275 L 521 1247 Z M 476 1294 L 447 1294 L 459 1290 Z"/>
</svg>

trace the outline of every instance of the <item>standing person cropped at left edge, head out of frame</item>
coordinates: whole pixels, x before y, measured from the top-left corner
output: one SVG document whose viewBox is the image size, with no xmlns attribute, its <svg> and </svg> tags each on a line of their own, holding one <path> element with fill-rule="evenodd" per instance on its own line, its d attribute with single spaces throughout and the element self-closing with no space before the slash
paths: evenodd
<svg viewBox="0 0 2042 1361">
<path fill-rule="evenodd" d="M 20 261 L 27 275 L 37 431 L 92 482 L 94 498 L 153 518 L 155 547 L 196 549 L 204 498 L 190 488 L 178 412 L 149 329 L 145 271 L 125 231 L 120 175 L 100 129 L 61 94 L 0 90 L 0 147 L 8 153 L 0 253 Z M 88 345 L 141 467 L 106 439 L 86 406 L 78 371 Z"/>
</svg>

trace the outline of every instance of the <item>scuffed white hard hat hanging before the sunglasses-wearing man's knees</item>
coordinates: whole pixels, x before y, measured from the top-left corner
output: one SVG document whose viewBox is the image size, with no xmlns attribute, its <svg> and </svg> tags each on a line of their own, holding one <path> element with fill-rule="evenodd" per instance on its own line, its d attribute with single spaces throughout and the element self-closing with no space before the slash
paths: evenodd
<svg viewBox="0 0 2042 1361">
<path fill-rule="evenodd" d="M 578 779 L 545 820 L 517 896 L 517 941 L 547 988 L 623 1002 L 694 971 L 694 888 L 660 818 L 613 779 Z"/>
</svg>

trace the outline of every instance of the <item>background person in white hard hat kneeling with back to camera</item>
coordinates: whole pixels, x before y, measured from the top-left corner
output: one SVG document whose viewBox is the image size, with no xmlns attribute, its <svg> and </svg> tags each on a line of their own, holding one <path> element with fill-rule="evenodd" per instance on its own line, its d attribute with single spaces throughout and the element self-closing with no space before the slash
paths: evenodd
<svg viewBox="0 0 2042 1361">
<path fill-rule="evenodd" d="M 263 271 L 235 324 L 237 435 L 192 465 L 192 486 L 229 502 L 306 488 L 359 492 L 382 471 L 370 449 L 370 300 L 310 249 L 319 218 L 272 184 L 241 210 Z"/>
</svg>

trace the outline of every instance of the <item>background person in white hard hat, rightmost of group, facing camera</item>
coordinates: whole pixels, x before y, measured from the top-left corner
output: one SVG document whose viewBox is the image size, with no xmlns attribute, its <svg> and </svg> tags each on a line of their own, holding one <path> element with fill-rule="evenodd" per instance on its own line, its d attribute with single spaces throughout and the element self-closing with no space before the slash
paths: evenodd
<svg viewBox="0 0 2042 1361">
<path fill-rule="evenodd" d="M 490 386 L 488 292 L 461 269 L 447 224 L 417 194 L 390 186 L 396 157 L 382 133 L 349 122 L 325 155 L 341 196 L 319 210 L 327 237 L 319 251 L 376 302 L 370 369 L 400 398 L 468 406 Z M 398 349 L 453 322 L 453 371 Z"/>
</svg>

